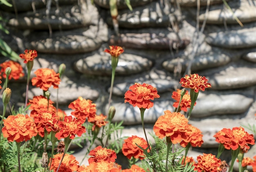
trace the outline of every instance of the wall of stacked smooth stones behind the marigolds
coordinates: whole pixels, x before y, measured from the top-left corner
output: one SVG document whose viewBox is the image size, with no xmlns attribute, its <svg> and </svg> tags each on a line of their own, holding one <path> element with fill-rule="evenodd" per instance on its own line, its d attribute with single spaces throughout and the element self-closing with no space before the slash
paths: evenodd
<svg viewBox="0 0 256 172">
<path fill-rule="evenodd" d="M 133 11 L 124 0 L 117 1 L 119 36 L 112 28 L 108 0 L 94 0 L 94 5 L 90 0 L 55 0 L 50 10 L 42 0 L 14 0 L 15 9 L 0 6 L 8 19 L 5 26 L 11 32 L 0 36 L 17 53 L 25 49 L 38 51 L 32 72 L 39 67 L 57 71 L 61 63 L 67 65 L 59 89 L 59 104 L 67 113 L 67 105 L 78 96 L 93 100 L 98 113 L 105 113 L 111 65 L 109 54 L 103 50 L 108 45 L 122 46 L 125 51 L 117 66 L 111 105 L 117 109 L 114 121 L 124 120 L 124 135 L 143 137 L 139 109 L 124 103 L 130 85 L 138 82 L 157 87 L 160 98 L 144 116 L 148 131 L 152 131 L 165 110 L 174 110 L 172 91 L 180 87 L 180 77 L 190 70 L 206 76 L 212 85 L 200 92 L 191 116 L 190 123 L 204 135 L 204 144 L 195 151 L 216 150 L 213 135 L 224 127 L 255 123 L 254 0 L 228 2 L 243 27 L 222 0 L 211 0 L 209 12 L 207 0 L 200 0 L 198 17 L 196 0 L 130 0 Z M 25 79 L 11 82 L 10 87 L 12 101 L 22 105 Z M 49 91 L 56 102 L 56 90 Z M 40 89 L 32 88 L 29 97 L 40 94 Z M 223 158 L 229 160 L 228 156 Z"/>
</svg>

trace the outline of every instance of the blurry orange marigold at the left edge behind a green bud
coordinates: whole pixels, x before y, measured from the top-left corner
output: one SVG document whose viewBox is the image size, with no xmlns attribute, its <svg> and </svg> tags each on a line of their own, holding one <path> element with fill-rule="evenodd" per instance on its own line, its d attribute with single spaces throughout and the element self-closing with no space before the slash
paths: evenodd
<svg viewBox="0 0 256 172">
<path fill-rule="evenodd" d="M 8 79 L 15 79 L 18 80 L 20 77 L 24 76 L 22 66 L 20 63 L 9 60 L 5 61 L 4 63 L 0 64 L 1 70 L 0 70 L 0 75 L 6 78 L 5 70 L 7 67 L 11 68 L 11 73 L 9 74 Z"/>
</svg>

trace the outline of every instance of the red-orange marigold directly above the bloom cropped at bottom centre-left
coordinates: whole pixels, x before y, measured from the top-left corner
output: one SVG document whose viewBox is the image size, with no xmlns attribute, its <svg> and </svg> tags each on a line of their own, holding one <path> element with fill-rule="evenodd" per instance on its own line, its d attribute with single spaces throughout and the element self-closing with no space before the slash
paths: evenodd
<svg viewBox="0 0 256 172">
<path fill-rule="evenodd" d="M 102 148 L 101 146 L 91 150 L 89 155 L 92 156 L 88 159 L 89 164 L 100 161 L 115 162 L 115 159 L 117 159 L 117 153 L 114 150 Z"/>
</svg>

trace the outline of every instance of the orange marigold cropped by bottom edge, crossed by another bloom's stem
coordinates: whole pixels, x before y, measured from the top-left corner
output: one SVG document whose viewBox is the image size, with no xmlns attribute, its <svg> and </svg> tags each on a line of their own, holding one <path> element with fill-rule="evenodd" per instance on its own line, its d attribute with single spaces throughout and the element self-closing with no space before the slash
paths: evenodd
<svg viewBox="0 0 256 172">
<path fill-rule="evenodd" d="M 54 155 L 54 157 L 52 158 L 50 170 L 53 170 L 54 172 L 57 171 L 58 165 L 60 164 L 62 157 L 63 153 Z M 51 162 L 51 158 L 49 162 Z M 79 162 L 76 161 L 76 158 L 73 155 L 65 154 L 58 172 L 74 172 L 77 171 L 78 168 Z"/>
</svg>

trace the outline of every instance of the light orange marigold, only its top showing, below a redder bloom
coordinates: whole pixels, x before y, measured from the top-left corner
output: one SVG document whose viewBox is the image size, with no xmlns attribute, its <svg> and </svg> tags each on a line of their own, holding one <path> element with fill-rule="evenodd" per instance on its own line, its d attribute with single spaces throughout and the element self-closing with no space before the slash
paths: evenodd
<svg viewBox="0 0 256 172">
<path fill-rule="evenodd" d="M 77 172 L 120 172 L 121 168 L 113 162 L 92 162 L 88 166 L 80 166 Z"/>
</svg>

